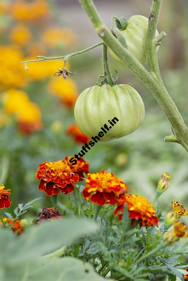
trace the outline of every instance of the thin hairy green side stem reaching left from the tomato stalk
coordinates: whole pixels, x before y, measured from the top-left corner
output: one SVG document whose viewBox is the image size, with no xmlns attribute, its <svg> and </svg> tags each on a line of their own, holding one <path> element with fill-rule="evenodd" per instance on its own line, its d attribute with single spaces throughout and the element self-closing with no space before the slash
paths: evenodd
<svg viewBox="0 0 188 281">
<path fill-rule="evenodd" d="M 27 63 L 27 62 L 52 61 L 52 60 L 58 60 L 58 59 L 64 59 L 65 61 L 68 61 L 68 60 L 70 60 L 70 58 L 72 58 L 72 57 L 77 57 L 77 56 L 79 56 L 79 55 L 82 55 L 82 54 L 84 54 L 84 53 L 86 53 L 86 52 L 88 52 L 88 51 L 90 51 L 90 50 L 92 50 L 92 49 L 94 49 L 94 48 L 96 48 L 96 47 L 98 47 L 98 46 L 100 46 L 100 45 L 103 45 L 103 42 L 99 42 L 99 43 L 97 43 L 97 44 L 95 44 L 95 45 L 93 45 L 93 46 L 91 46 L 91 47 L 88 47 L 88 48 L 82 50 L 82 51 L 74 52 L 74 53 L 69 54 L 69 55 L 64 55 L 64 56 L 60 56 L 60 57 L 44 57 L 44 56 L 37 56 L 37 58 L 38 58 L 39 60 L 24 61 L 24 62 L 20 62 L 20 64 L 22 64 L 22 63 Z"/>
</svg>

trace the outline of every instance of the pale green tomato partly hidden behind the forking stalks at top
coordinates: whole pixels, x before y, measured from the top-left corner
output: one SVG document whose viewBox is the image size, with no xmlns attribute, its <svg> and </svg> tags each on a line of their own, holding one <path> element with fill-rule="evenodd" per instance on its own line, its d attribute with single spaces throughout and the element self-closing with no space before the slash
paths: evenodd
<svg viewBox="0 0 188 281">
<path fill-rule="evenodd" d="M 144 49 L 144 42 L 148 26 L 148 18 L 140 15 L 132 16 L 128 19 L 128 24 L 125 30 L 121 33 L 126 39 L 126 44 L 129 51 L 137 58 L 137 60 L 144 64 L 146 62 L 146 53 Z M 156 30 L 156 36 L 159 32 Z M 156 48 L 156 51 L 159 46 Z M 121 60 L 109 49 L 111 56 L 119 63 L 123 64 Z"/>
</svg>

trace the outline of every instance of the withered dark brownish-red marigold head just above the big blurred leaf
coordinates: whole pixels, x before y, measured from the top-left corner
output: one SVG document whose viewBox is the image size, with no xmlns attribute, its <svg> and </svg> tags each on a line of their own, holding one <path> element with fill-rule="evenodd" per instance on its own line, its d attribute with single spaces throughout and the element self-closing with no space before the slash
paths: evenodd
<svg viewBox="0 0 188 281">
<path fill-rule="evenodd" d="M 41 223 L 45 220 L 54 220 L 54 219 L 62 219 L 64 216 L 59 213 L 58 210 L 55 210 L 54 207 L 42 209 L 42 212 L 38 214 L 39 219 L 36 219 L 37 224 Z"/>
</svg>

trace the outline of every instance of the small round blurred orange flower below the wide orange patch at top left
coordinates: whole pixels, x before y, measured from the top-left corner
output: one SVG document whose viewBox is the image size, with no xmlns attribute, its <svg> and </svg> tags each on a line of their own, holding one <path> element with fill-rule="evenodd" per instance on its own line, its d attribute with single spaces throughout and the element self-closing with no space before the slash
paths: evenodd
<svg viewBox="0 0 188 281">
<path fill-rule="evenodd" d="M 10 40 L 22 46 L 27 45 L 31 38 L 30 30 L 23 24 L 15 25 L 10 32 Z"/>
</svg>

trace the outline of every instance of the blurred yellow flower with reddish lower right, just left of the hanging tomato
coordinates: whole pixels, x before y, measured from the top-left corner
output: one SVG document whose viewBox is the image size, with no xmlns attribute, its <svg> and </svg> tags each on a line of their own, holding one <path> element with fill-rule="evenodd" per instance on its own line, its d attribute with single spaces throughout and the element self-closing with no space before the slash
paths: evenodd
<svg viewBox="0 0 188 281">
<path fill-rule="evenodd" d="M 48 83 L 48 91 L 59 96 L 61 101 L 68 106 L 74 105 L 78 97 L 77 85 L 71 78 L 66 80 L 61 77 L 52 79 Z"/>
</svg>

